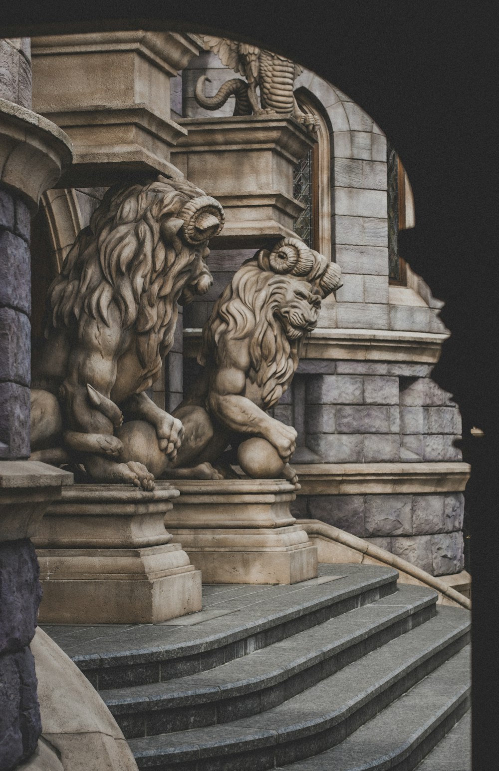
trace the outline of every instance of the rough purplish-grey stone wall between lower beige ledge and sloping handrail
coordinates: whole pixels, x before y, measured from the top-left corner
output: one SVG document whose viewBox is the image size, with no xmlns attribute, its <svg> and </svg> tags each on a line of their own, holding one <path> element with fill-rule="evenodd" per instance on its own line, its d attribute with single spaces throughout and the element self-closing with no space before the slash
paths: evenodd
<svg viewBox="0 0 499 771">
<path fill-rule="evenodd" d="M 432 575 L 464 568 L 462 493 L 303 496 L 296 512 L 367 538 Z"/>
</svg>

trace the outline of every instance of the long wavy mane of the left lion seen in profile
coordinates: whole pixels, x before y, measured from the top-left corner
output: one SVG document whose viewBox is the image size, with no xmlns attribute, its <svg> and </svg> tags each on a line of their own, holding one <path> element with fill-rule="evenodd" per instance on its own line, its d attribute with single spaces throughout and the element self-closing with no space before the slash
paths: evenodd
<svg viewBox="0 0 499 771">
<path fill-rule="evenodd" d="M 114 303 L 122 328 L 137 335 L 141 365 L 154 377 L 172 345 L 177 301 L 195 252 L 169 220 L 202 197 L 208 200 L 193 184 L 165 177 L 110 188 L 49 288 L 52 324 L 45 336 L 51 325 L 79 325 L 85 315 L 111 326 Z"/>
</svg>

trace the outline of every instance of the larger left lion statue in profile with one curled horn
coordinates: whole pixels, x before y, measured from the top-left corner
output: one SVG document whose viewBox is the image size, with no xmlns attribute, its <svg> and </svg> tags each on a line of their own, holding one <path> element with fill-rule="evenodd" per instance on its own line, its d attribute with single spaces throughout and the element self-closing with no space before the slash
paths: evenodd
<svg viewBox="0 0 499 771">
<path fill-rule="evenodd" d="M 208 239 L 223 227 L 219 202 L 159 176 L 110 188 L 49 288 L 45 342 L 34 367 L 32 460 L 73 463 L 97 482 L 154 486 L 122 459 L 117 429 L 141 420 L 174 460 L 179 419 L 145 391 L 172 346 L 177 302 L 213 283 Z"/>
</svg>

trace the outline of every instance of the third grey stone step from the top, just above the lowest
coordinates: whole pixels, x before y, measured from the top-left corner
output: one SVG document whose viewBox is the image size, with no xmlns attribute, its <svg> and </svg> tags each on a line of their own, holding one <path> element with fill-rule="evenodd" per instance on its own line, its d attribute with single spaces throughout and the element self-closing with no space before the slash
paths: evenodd
<svg viewBox="0 0 499 771">
<path fill-rule="evenodd" d="M 460 672 L 460 682 L 466 683 L 469 651 L 460 649 L 468 637 L 467 611 L 440 608 L 425 624 L 262 714 L 186 732 L 129 739 L 129 746 L 139 769 L 250 771 L 296 763 L 342 742 L 427 675 L 427 682 L 434 682 L 434 689 L 442 691 L 437 668 L 450 657 L 454 656 L 450 672 Z M 454 681 L 452 675 L 455 699 L 467 698 L 467 685 L 457 687 Z"/>
</svg>

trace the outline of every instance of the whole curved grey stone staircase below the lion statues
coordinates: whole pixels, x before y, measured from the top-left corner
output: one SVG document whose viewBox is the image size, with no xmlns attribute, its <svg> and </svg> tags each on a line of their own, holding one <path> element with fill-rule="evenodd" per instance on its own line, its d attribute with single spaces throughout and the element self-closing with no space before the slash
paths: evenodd
<svg viewBox="0 0 499 771">
<path fill-rule="evenodd" d="M 470 771 L 469 725 L 453 729 L 470 614 L 436 600 L 391 567 L 322 564 L 291 586 L 205 585 L 203 611 L 163 624 L 44 628 L 139 769 Z"/>
</svg>

